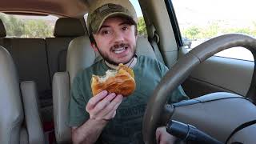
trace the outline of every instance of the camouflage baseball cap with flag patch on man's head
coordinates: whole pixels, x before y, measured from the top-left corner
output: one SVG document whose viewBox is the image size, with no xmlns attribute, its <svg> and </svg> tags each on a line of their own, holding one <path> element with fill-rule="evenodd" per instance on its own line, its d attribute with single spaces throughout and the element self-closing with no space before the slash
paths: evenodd
<svg viewBox="0 0 256 144">
<path fill-rule="evenodd" d="M 94 0 L 87 18 L 89 34 L 96 34 L 106 18 L 124 16 L 137 23 L 137 14 L 129 0 Z"/>
</svg>

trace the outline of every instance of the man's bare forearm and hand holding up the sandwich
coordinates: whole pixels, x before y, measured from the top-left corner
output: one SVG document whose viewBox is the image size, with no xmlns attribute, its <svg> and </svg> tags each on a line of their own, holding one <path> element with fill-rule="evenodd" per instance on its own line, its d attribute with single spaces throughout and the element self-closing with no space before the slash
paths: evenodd
<svg viewBox="0 0 256 144">
<path fill-rule="evenodd" d="M 72 128 L 73 143 L 96 142 L 108 120 L 114 118 L 121 102 L 121 94 L 107 94 L 106 90 L 90 98 L 86 105 L 86 111 L 90 114 L 90 119 L 82 126 Z"/>
</svg>

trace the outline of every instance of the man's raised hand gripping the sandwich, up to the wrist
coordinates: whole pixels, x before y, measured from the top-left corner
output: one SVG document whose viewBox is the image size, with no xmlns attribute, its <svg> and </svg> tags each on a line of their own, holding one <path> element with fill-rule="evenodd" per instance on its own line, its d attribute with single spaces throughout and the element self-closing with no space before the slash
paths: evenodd
<svg viewBox="0 0 256 144">
<path fill-rule="evenodd" d="M 121 94 L 108 94 L 106 90 L 103 90 L 90 98 L 86 105 L 86 111 L 90 114 L 90 119 L 108 121 L 114 118 L 122 98 Z"/>
</svg>

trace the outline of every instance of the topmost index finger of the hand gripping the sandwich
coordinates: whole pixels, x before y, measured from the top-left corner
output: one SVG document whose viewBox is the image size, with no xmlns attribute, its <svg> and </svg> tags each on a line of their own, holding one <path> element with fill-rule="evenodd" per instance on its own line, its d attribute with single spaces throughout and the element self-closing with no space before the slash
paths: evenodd
<svg viewBox="0 0 256 144">
<path fill-rule="evenodd" d="M 107 91 L 103 90 L 102 92 L 96 94 L 93 98 L 90 98 L 89 102 L 87 102 L 86 105 L 86 111 L 89 112 L 91 109 L 94 108 L 94 106 L 100 102 L 103 98 L 105 98 L 107 95 Z"/>
</svg>

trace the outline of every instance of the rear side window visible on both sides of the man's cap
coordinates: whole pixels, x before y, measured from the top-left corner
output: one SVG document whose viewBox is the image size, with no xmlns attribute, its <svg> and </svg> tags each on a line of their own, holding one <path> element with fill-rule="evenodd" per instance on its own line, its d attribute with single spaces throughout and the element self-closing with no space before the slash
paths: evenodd
<svg viewBox="0 0 256 144">
<path fill-rule="evenodd" d="M 138 17 L 138 24 L 137 24 L 138 34 L 147 38 L 148 35 L 147 35 L 147 31 L 146 31 L 146 24 L 145 24 L 145 20 L 143 18 L 141 6 L 139 5 L 138 0 L 130 0 L 130 2 L 134 6 L 134 9 L 136 10 L 136 14 Z M 86 25 L 87 25 L 87 15 L 88 14 L 84 15 Z"/>
</svg>

